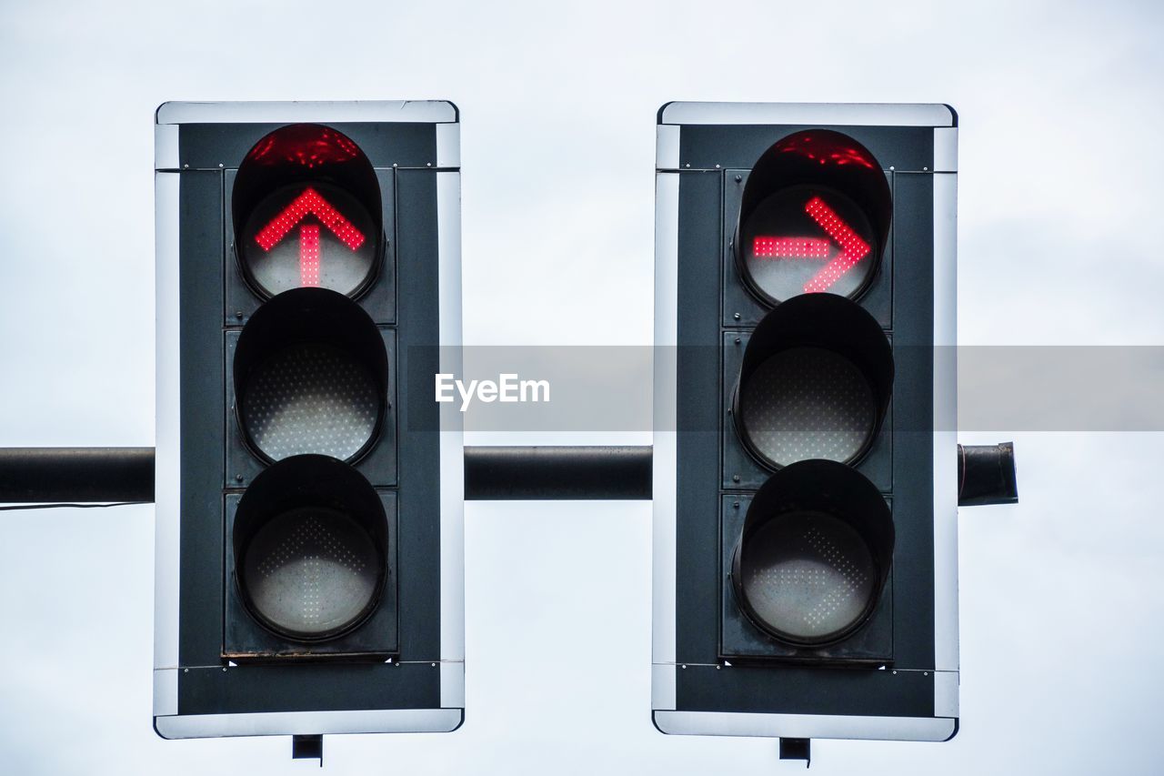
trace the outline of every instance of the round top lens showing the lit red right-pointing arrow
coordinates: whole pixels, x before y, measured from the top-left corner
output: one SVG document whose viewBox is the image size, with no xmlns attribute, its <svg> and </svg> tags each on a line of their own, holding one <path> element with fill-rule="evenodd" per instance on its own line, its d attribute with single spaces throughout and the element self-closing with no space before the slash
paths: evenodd
<svg viewBox="0 0 1164 776">
<path fill-rule="evenodd" d="M 822 186 L 766 197 L 740 225 L 739 240 L 747 282 L 769 304 L 800 294 L 856 297 L 878 263 L 868 218 L 852 199 Z"/>
</svg>

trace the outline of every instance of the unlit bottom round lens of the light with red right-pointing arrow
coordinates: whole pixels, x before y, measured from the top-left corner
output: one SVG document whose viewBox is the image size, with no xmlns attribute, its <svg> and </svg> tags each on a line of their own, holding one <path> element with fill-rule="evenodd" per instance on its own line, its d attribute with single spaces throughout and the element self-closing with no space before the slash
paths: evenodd
<svg viewBox="0 0 1164 776">
<path fill-rule="evenodd" d="M 818 512 L 769 520 L 747 538 L 743 591 L 760 625 L 778 636 L 823 642 L 871 609 L 876 566 L 860 535 Z"/>
</svg>

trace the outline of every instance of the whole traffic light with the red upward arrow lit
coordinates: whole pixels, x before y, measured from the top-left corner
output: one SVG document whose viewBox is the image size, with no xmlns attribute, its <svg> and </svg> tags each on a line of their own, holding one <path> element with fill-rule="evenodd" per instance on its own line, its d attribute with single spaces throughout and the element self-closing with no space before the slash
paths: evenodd
<svg viewBox="0 0 1164 776">
<path fill-rule="evenodd" d="M 461 724 L 463 446 L 431 393 L 460 372 L 459 128 L 157 111 L 163 738 Z"/>
</svg>

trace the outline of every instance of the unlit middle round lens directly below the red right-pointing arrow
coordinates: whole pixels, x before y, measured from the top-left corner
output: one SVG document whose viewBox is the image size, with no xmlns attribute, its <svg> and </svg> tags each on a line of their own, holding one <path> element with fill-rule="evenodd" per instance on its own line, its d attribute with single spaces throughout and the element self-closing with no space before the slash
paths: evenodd
<svg viewBox="0 0 1164 776">
<path fill-rule="evenodd" d="M 739 411 L 754 452 L 774 466 L 810 458 L 849 463 L 876 422 L 865 375 L 822 347 L 792 347 L 761 362 L 740 386 Z"/>
</svg>

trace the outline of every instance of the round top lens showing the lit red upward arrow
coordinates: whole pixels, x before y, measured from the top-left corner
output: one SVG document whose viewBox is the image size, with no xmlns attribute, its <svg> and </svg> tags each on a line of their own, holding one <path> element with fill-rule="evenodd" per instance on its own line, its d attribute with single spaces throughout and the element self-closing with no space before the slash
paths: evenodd
<svg viewBox="0 0 1164 776">
<path fill-rule="evenodd" d="M 244 275 L 268 297 L 318 287 L 356 296 L 375 278 L 378 231 L 343 189 L 311 181 L 258 202 L 237 238 Z"/>
</svg>

